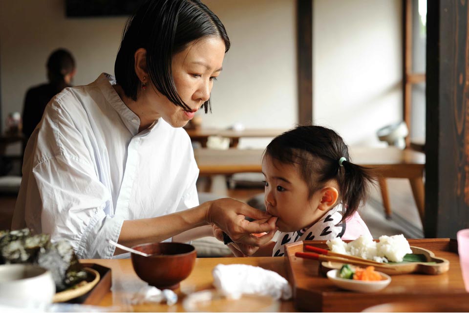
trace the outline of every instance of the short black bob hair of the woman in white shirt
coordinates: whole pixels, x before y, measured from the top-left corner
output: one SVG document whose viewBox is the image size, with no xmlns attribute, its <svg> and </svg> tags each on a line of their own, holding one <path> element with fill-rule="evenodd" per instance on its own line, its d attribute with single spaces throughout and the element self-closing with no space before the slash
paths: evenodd
<svg viewBox="0 0 469 313">
<path fill-rule="evenodd" d="M 230 39 L 218 17 L 199 0 L 149 0 L 131 16 L 124 29 L 114 72 L 126 96 L 136 101 L 141 82 L 134 70 L 134 54 L 147 50 L 149 80 L 161 94 L 186 111 L 192 109 L 179 96 L 171 70 L 171 58 L 189 43 L 207 36 L 220 37 L 225 53 Z M 205 112 L 210 99 L 203 104 Z"/>
</svg>

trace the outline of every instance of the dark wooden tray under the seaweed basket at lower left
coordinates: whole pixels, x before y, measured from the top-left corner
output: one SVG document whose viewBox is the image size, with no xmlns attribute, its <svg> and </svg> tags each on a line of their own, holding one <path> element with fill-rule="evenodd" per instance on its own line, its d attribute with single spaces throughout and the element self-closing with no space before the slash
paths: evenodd
<svg viewBox="0 0 469 313">
<path fill-rule="evenodd" d="M 100 279 L 98 283 L 93 287 L 93 289 L 79 297 L 73 298 L 66 302 L 98 305 L 101 302 L 101 299 L 111 289 L 111 269 L 95 263 L 82 263 L 82 265 L 86 268 L 92 268 L 96 270 L 100 275 Z"/>
</svg>

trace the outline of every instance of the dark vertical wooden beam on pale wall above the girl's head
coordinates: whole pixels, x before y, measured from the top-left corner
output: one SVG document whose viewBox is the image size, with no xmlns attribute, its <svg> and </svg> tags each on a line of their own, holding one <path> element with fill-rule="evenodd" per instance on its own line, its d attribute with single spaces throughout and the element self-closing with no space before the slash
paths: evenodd
<svg viewBox="0 0 469 313">
<path fill-rule="evenodd" d="M 313 0 L 297 0 L 298 123 L 313 121 Z"/>
</svg>

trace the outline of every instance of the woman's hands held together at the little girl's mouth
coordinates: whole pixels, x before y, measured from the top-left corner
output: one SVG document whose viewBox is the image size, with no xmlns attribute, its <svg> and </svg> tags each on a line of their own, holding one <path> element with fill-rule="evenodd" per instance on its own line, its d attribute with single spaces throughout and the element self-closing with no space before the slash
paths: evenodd
<svg viewBox="0 0 469 313">
<path fill-rule="evenodd" d="M 245 220 L 246 216 L 260 221 L 249 222 Z M 224 198 L 211 201 L 205 220 L 218 226 L 230 236 L 243 254 L 252 255 L 257 247 L 267 244 L 274 237 L 277 217 L 257 210 L 246 203 Z M 263 232 L 267 234 L 261 237 L 252 235 Z"/>
</svg>

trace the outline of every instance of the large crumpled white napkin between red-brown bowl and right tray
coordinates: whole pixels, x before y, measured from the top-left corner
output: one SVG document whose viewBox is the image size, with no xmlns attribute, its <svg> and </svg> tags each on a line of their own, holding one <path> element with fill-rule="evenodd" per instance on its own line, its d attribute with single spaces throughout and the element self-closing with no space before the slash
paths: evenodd
<svg viewBox="0 0 469 313">
<path fill-rule="evenodd" d="M 288 281 L 272 270 L 246 264 L 218 264 L 212 274 L 215 288 L 233 298 L 239 298 L 243 293 L 270 295 L 284 300 L 292 297 Z"/>
</svg>

